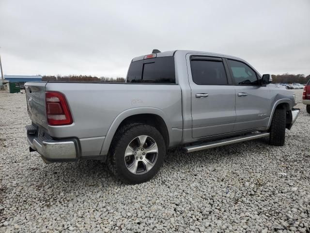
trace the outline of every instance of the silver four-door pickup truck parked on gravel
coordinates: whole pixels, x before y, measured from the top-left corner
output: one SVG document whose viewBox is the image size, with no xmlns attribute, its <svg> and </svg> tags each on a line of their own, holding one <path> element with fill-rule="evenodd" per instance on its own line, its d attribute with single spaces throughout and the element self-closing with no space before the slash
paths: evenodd
<svg viewBox="0 0 310 233">
<path fill-rule="evenodd" d="M 269 137 L 282 146 L 299 110 L 246 61 L 175 50 L 132 59 L 126 83 L 26 83 L 30 151 L 46 163 L 107 161 L 127 183 L 148 181 L 166 150 L 185 152 Z"/>
</svg>

